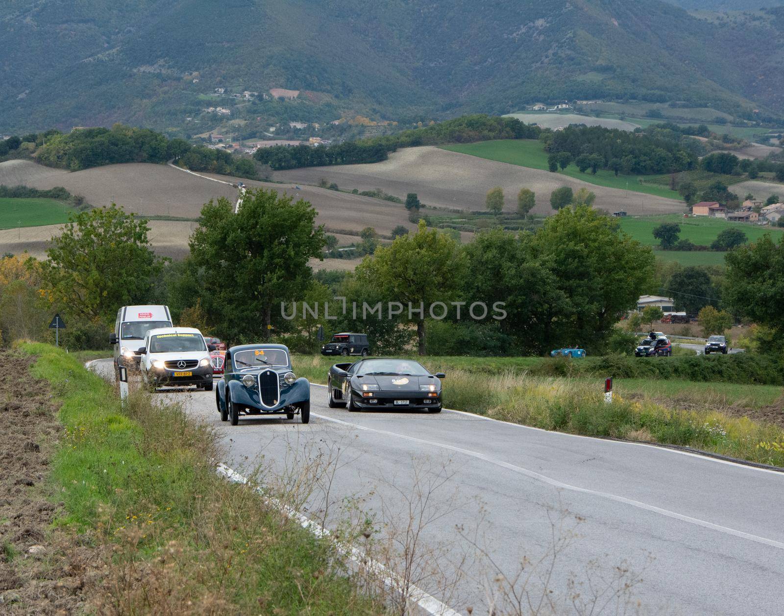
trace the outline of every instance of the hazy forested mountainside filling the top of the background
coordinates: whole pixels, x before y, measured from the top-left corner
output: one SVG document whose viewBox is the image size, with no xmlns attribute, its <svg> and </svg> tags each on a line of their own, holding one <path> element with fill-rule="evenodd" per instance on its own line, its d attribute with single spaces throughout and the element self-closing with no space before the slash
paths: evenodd
<svg viewBox="0 0 784 616">
<path fill-rule="evenodd" d="M 597 97 L 782 113 L 782 31 L 784 9 L 701 20 L 659 0 L 16 0 L 0 5 L 0 132 L 409 123 Z"/>
</svg>

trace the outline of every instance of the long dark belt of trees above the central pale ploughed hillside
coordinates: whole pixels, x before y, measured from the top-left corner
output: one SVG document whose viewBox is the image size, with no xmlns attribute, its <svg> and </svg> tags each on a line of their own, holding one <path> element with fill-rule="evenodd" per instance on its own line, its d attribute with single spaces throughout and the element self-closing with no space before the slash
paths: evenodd
<svg viewBox="0 0 784 616">
<path fill-rule="evenodd" d="M 485 114 L 466 115 L 368 140 L 346 141 L 330 146 L 275 146 L 256 150 L 257 161 L 271 168 L 292 169 L 325 165 L 357 165 L 387 160 L 390 153 L 404 147 L 472 143 L 497 139 L 536 139 L 541 129 L 516 118 Z"/>
</svg>

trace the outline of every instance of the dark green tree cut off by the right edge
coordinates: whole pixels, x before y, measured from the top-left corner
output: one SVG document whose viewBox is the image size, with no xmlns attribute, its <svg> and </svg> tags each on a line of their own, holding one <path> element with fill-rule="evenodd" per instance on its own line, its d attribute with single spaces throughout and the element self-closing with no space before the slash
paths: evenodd
<svg viewBox="0 0 784 616">
<path fill-rule="evenodd" d="M 738 317 L 768 326 L 784 335 L 784 241 L 764 235 L 755 244 L 739 246 L 724 257 L 727 264 L 724 303 Z"/>
</svg>

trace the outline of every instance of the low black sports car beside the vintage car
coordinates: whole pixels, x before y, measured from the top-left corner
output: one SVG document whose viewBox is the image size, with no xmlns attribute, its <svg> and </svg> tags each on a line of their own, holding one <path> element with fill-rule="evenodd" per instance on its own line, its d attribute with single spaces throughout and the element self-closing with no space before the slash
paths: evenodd
<svg viewBox="0 0 784 616">
<path fill-rule="evenodd" d="M 432 375 L 418 361 L 363 359 L 335 364 L 327 378 L 327 404 L 349 411 L 375 408 L 413 408 L 441 411 L 443 372 Z"/>
</svg>

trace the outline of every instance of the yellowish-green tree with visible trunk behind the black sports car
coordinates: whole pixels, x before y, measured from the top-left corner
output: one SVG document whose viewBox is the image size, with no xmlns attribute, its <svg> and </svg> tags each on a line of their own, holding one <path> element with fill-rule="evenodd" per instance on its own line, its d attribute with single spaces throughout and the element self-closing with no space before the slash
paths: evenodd
<svg viewBox="0 0 784 616">
<path fill-rule="evenodd" d="M 404 306 L 401 317 L 416 323 L 419 354 L 425 353 L 425 316 L 430 304 L 449 302 L 457 295 L 465 257 L 451 237 L 420 222 L 416 234 L 397 237 L 381 246 L 357 267 L 361 284 L 379 290 L 388 301 Z M 401 272 L 405 275 L 401 276 Z M 408 312 L 408 306 L 422 313 Z"/>
</svg>

